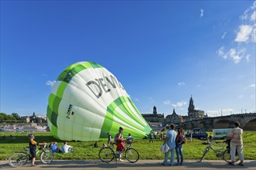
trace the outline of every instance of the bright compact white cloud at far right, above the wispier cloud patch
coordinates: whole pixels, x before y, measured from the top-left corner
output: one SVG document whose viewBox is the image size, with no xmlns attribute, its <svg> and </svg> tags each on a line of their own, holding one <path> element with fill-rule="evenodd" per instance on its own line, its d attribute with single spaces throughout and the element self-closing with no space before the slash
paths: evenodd
<svg viewBox="0 0 256 170">
<path fill-rule="evenodd" d="M 248 42 L 251 36 L 251 32 L 253 31 L 253 27 L 249 25 L 241 25 L 239 32 L 237 33 L 237 37 L 235 39 L 236 42 Z"/>
</svg>

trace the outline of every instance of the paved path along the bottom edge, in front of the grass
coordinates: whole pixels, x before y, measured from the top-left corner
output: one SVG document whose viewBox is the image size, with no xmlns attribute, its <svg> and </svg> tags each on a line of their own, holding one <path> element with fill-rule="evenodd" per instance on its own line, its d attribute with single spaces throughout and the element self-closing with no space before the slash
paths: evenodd
<svg viewBox="0 0 256 170">
<path fill-rule="evenodd" d="M 40 161 L 36 161 L 40 163 Z M 116 162 L 112 161 L 110 163 L 104 163 L 99 160 L 54 160 L 54 162 L 50 163 L 50 165 L 37 165 L 36 167 L 30 167 L 29 163 L 19 167 L 12 168 L 9 166 L 7 161 L 0 162 L 1 169 L 178 169 L 178 170 L 187 170 L 187 169 L 196 169 L 196 170 L 211 170 L 211 169 L 251 169 L 256 170 L 256 161 L 255 160 L 246 160 L 244 162 L 244 167 L 240 165 L 227 165 L 227 162 L 223 160 L 203 160 L 202 162 L 197 162 L 196 160 L 185 160 L 182 166 L 164 166 L 161 165 L 161 160 L 139 160 L 138 162 L 132 164 L 127 161 L 125 162 Z"/>
</svg>

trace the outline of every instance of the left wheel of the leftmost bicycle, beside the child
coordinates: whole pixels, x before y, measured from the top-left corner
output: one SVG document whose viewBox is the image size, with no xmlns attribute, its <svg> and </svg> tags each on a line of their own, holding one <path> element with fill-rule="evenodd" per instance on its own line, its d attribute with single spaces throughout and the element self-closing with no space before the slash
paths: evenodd
<svg viewBox="0 0 256 170">
<path fill-rule="evenodd" d="M 10 156 L 8 163 L 12 167 L 25 165 L 28 162 L 28 157 L 23 153 L 15 153 Z"/>
</svg>

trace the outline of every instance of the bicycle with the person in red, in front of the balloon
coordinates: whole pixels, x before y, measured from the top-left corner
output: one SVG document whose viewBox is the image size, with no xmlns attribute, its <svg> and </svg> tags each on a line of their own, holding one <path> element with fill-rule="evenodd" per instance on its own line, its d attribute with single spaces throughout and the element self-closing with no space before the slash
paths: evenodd
<svg viewBox="0 0 256 170">
<path fill-rule="evenodd" d="M 113 145 L 116 145 L 116 143 L 112 143 L 112 146 Z M 132 147 L 132 140 L 131 141 L 127 140 L 126 145 L 123 149 L 126 150 L 124 152 L 124 155 L 128 162 L 135 163 L 139 160 L 140 158 L 139 152 Z M 114 151 L 113 147 L 106 146 L 99 150 L 99 159 L 102 162 L 109 163 L 109 162 L 112 162 L 114 158 L 116 158 L 116 161 L 118 160 L 119 151 Z"/>
</svg>

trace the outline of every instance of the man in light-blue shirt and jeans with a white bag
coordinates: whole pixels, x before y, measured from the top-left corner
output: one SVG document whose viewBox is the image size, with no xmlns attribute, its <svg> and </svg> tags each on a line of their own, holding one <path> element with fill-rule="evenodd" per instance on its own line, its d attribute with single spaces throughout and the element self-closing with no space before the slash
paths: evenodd
<svg viewBox="0 0 256 170">
<path fill-rule="evenodd" d="M 168 165 L 168 157 L 169 153 L 171 152 L 171 161 L 170 165 L 173 166 L 175 164 L 175 139 L 176 139 L 177 133 L 175 131 L 175 124 L 170 125 L 170 129 L 166 134 L 166 138 L 164 138 L 164 143 L 166 142 L 169 150 L 164 155 L 164 162 L 162 162 L 162 165 Z"/>
</svg>

